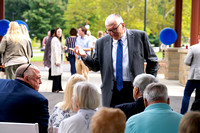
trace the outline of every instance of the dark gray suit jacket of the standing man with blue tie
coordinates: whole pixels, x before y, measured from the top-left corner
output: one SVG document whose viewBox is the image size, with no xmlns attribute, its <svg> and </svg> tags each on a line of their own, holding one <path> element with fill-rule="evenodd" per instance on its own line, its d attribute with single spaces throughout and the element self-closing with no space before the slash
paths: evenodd
<svg viewBox="0 0 200 133">
<path fill-rule="evenodd" d="M 146 73 L 156 76 L 158 71 L 158 59 L 148 41 L 147 34 L 139 30 L 126 30 L 126 35 L 131 81 L 133 81 L 138 74 L 144 73 L 144 60 L 147 62 Z M 110 35 L 98 39 L 95 45 L 94 58 L 88 55 L 86 59 L 83 59 L 90 70 L 100 70 L 102 80 L 102 103 L 103 106 L 107 107 L 110 107 L 114 81 L 112 42 L 113 39 Z"/>
</svg>

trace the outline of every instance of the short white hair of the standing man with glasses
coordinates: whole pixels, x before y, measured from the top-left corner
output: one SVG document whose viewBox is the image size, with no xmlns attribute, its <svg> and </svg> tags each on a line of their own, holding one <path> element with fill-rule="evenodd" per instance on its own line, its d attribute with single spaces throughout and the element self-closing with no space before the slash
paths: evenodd
<svg viewBox="0 0 200 133">
<path fill-rule="evenodd" d="M 117 22 L 117 24 L 124 23 L 124 21 L 123 21 L 123 19 L 122 19 L 122 17 L 120 15 L 118 15 L 118 14 L 111 14 L 111 15 L 109 15 L 106 18 L 105 26 L 111 25 L 114 22 Z"/>
</svg>

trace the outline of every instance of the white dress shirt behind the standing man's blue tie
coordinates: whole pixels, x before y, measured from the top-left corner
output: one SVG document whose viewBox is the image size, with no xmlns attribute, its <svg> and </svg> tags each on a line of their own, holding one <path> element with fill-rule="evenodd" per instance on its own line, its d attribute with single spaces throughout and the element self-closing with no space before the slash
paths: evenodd
<svg viewBox="0 0 200 133">
<path fill-rule="evenodd" d="M 126 32 L 121 38 L 123 43 L 123 81 L 131 81 L 130 78 L 130 70 L 129 70 L 129 56 L 128 56 L 128 45 L 127 45 L 127 36 Z M 113 39 L 113 47 L 112 47 L 112 59 L 113 59 L 113 69 L 114 69 L 114 78 L 116 79 L 116 59 L 117 59 L 117 46 L 118 40 Z"/>
</svg>

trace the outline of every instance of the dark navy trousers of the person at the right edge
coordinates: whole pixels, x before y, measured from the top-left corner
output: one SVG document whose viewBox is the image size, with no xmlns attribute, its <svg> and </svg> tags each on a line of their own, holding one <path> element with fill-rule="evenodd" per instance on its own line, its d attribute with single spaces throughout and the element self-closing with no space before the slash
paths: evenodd
<svg viewBox="0 0 200 133">
<path fill-rule="evenodd" d="M 185 86 L 184 96 L 182 99 L 181 114 L 185 114 L 187 112 L 190 97 L 195 88 L 195 101 L 197 101 L 200 98 L 200 80 L 188 80 Z"/>
</svg>

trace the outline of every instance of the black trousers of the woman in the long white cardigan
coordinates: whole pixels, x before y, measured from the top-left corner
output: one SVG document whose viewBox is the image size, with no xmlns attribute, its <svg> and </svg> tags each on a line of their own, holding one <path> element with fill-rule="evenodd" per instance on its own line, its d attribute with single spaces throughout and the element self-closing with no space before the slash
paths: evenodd
<svg viewBox="0 0 200 133">
<path fill-rule="evenodd" d="M 52 76 L 52 77 L 53 77 L 52 92 L 55 92 L 55 91 L 62 91 L 61 75 Z"/>
</svg>

